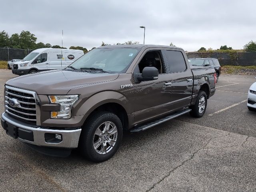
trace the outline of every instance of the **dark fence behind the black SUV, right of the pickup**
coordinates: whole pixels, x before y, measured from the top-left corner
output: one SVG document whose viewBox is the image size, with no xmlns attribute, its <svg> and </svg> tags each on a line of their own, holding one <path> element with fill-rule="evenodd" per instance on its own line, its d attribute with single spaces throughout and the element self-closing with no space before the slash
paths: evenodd
<svg viewBox="0 0 256 192">
<path fill-rule="evenodd" d="M 187 52 L 188 58 L 216 58 L 220 65 L 256 66 L 256 52 Z"/>
</svg>

